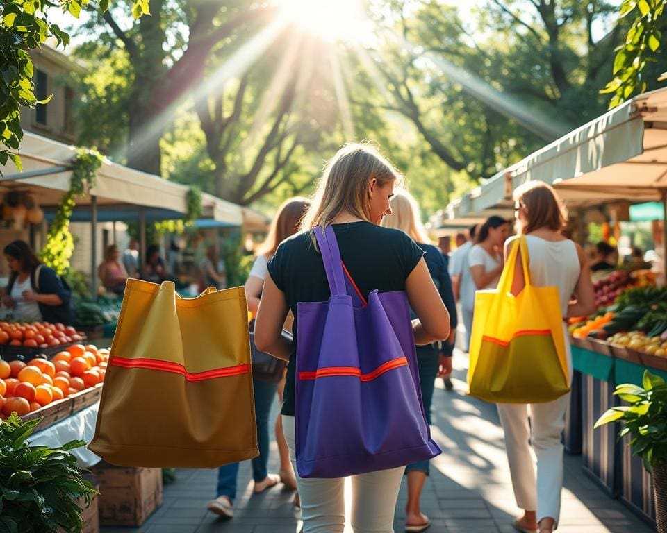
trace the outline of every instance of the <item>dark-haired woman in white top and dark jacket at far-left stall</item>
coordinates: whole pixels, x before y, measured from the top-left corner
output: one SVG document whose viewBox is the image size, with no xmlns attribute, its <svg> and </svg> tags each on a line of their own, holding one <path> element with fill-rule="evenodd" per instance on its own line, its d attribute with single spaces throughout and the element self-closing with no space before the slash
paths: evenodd
<svg viewBox="0 0 667 533">
<path fill-rule="evenodd" d="M 70 325 L 72 291 L 56 271 L 42 264 L 25 241 L 10 242 L 3 253 L 11 274 L 2 303 L 13 319 Z"/>
</svg>

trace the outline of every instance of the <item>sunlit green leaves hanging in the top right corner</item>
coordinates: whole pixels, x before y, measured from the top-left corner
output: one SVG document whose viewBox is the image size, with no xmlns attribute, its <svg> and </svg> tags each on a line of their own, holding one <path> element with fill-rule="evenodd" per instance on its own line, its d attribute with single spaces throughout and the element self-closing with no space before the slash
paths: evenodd
<svg viewBox="0 0 667 533">
<path fill-rule="evenodd" d="M 662 35 L 657 22 L 666 3 L 667 0 L 625 0 L 621 4 L 620 17 L 636 12 L 636 18 L 627 31 L 625 44 L 616 49 L 611 71 L 614 79 L 600 90 L 601 94 L 614 94 L 609 109 L 646 90 L 642 72 L 647 62 L 653 59 L 650 54 L 657 53 L 660 48 Z"/>
</svg>

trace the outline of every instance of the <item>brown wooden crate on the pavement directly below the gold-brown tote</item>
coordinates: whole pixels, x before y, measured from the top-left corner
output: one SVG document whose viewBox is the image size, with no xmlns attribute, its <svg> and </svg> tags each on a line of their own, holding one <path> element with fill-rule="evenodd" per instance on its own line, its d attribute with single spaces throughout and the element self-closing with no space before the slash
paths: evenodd
<svg viewBox="0 0 667 533">
<path fill-rule="evenodd" d="M 138 527 L 162 505 L 161 468 L 124 468 L 101 462 L 92 471 L 99 481 L 101 526 Z"/>
</svg>

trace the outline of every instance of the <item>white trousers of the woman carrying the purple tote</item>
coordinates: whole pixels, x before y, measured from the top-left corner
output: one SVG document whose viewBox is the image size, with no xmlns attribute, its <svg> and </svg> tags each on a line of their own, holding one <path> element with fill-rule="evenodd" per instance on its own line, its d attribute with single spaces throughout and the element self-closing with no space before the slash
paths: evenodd
<svg viewBox="0 0 667 533">
<path fill-rule="evenodd" d="M 342 533 L 345 529 L 345 477 L 299 477 L 295 455 L 294 416 L 283 416 L 283 431 L 297 477 L 303 533 Z M 405 467 L 352 476 L 354 533 L 393 533 L 394 509 Z"/>
</svg>

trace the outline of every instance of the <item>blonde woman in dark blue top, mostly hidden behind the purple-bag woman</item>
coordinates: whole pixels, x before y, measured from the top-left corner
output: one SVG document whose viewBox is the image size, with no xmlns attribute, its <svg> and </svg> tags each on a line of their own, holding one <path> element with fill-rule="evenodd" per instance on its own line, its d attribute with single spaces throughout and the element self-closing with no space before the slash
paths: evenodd
<svg viewBox="0 0 667 533">
<path fill-rule="evenodd" d="M 409 235 L 424 251 L 424 258 L 431 278 L 435 283 L 440 298 L 443 299 L 450 313 L 450 338 L 443 341 L 443 348 L 438 350 L 437 344 L 417 346 L 417 365 L 419 384 L 422 391 L 422 403 L 428 423 L 431 423 L 431 400 L 435 387 L 436 376 L 452 372 L 453 332 L 456 331 L 456 303 L 452 291 L 452 280 L 447 272 L 447 262 L 438 248 L 429 244 L 429 237 L 422 221 L 419 219 L 419 205 L 409 192 L 397 191 L 390 200 L 392 213 L 382 220 L 382 226 L 395 228 Z M 438 357 L 439 355 L 439 357 Z M 431 525 L 428 516 L 420 509 L 420 496 L 429 475 L 429 461 L 409 464 L 405 468 L 408 478 L 408 501 L 405 506 L 405 530 L 421 532 Z"/>
</svg>

